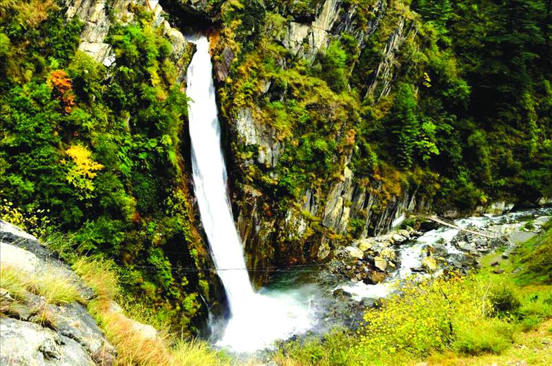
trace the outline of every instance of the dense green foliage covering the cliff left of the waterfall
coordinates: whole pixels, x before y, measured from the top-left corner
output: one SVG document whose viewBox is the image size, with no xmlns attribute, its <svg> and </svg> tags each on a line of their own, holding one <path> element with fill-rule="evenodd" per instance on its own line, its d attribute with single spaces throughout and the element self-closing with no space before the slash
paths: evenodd
<svg viewBox="0 0 552 366">
<path fill-rule="evenodd" d="M 136 6 L 132 22 L 110 27 L 115 66 L 106 69 L 77 50 L 82 24 L 65 10 L 1 2 L 2 217 L 39 234 L 43 217 L 49 231 L 70 233 L 50 238 L 68 259 L 114 258 L 133 296 L 193 330 L 207 282 L 172 267 L 206 257 L 190 224 L 187 98 L 170 41 Z"/>
</svg>

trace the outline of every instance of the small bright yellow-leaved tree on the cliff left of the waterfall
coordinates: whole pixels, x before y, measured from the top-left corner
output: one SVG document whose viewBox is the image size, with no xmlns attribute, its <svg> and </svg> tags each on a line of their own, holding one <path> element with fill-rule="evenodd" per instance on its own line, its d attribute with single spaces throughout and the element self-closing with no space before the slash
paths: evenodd
<svg viewBox="0 0 552 366">
<path fill-rule="evenodd" d="M 92 160 L 90 151 L 81 145 L 70 146 L 66 153 L 73 162 L 67 173 L 68 182 L 75 186 L 81 200 L 92 198 L 94 191 L 92 179 L 97 175 L 96 172 L 103 168 L 103 165 Z"/>
</svg>

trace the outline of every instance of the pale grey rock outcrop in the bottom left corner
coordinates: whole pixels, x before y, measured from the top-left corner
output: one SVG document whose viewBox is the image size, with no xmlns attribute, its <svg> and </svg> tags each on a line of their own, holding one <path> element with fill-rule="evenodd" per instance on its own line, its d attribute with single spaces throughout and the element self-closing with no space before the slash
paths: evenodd
<svg viewBox="0 0 552 366">
<path fill-rule="evenodd" d="M 115 348 L 83 305 L 94 298 L 93 291 L 34 236 L 3 221 L 0 221 L 0 267 L 2 365 L 115 364 Z M 5 277 L 8 270 L 21 273 L 26 280 L 41 281 L 43 276 L 63 278 L 75 286 L 80 300 L 53 304 L 30 291 L 14 293 L 17 287 Z"/>
</svg>

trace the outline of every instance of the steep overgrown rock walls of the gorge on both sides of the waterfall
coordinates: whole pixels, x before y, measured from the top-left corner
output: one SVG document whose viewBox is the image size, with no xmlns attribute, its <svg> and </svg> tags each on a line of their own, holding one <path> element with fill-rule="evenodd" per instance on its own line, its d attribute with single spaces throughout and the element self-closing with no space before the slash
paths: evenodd
<svg viewBox="0 0 552 366">
<path fill-rule="evenodd" d="M 458 19 L 435 18 L 424 1 L 159 3 L 66 0 L 50 10 L 50 19 L 63 12 L 67 24 L 82 21 L 75 44 L 25 66 L 37 64 L 28 73 L 49 93 L 29 104 L 46 109 L 51 99 L 61 117 L 40 127 L 55 131 L 46 153 L 14 142 L 40 129 L 12 122 L 27 108 L 13 101 L 34 84 L 3 70 L 10 133 L 0 135 L 0 194 L 23 211 L 50 209 L 61 231 L 77 234 L 69 245 L 113 258 L 130 293 L 175 329 L 201 332 L 209 312 L 227 311 L 193 195 L 186 32 L 211 40 L 230 200 L 257 286 L 270 279 L 257 269 L 324 262 L 409 213 L 457 217 L 549 202 L 550 70 L 532 71 L 533 94 L 519 98 L 507 123 L 504 110 L 486 116 L 470 99 L 472 90 L 482 94 L 474 82 L 481 71 L 464 55 L 465 35 L 451 36 Z M 471 14 L 455 8 L 463 11 Z M 22 50 L 41 44 L 16 39 L 8 26 L 2 32 Z M 2 54 L 8 66 L 17 56 Z M 58 69 L 69 71 L 73 104 L 52 90 Z M 75 145 L 102 166 L 89 180 L 96 193 L 68 182 Z M 47 162 L 32 170 L 29 156 Z M 48 164 L 56 184 L 43 184 Z"/>
</svg>

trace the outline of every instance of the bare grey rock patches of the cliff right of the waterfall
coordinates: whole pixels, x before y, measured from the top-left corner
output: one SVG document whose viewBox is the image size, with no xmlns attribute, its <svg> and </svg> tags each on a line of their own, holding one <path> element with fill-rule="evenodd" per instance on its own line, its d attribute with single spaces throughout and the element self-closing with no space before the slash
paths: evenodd
<svg viewBox="0 0 552 366">
<path fill-rule="evenodd" d="M 387 6 L 386 1 L 375 1 L 371 7 L 373 16 L 360 26 L 357 6 L 346 6 L 344 1 L 320 1 L 318 4 L 315 19 L 289 21 L 282 36 L 286 49 L 309 63 L 313 63 L 319 52 L 325 52 L 331 39 L 344 32 L 354 37 L 358 50 L 362 50 L 368 37 L 380 26 Z M 404 19 L 397 19 L 393 27 L 395 30 L 382 50 L 382 61 L 366 83 L 366 96 L 375 99 L 391 90 L 397 68 L 395 53 L 404 39 L 412 36 Z M 249 110 L 241 110 L 237 119 L 230 120 L 229 124 L 233 138 L 259 150 L 254 162 L 237 157 L 237 166 L 259 164 L 270 168 L 278 164 L 285 142 L 275 138 L 274 131 L 263 126 L 262 120 L 252 117 Z M 346 139 L 345 133 L 338 139 Z M 347 238 L 351 220 L 358 228 L 349 237 L 364 238 L 388 231 L 415 209 L 428 209 L 424 202 L 417 204 L 414 189 L 404 187 L 384 198 L 382 182 L 355 180 L 355 173 L 348 167 L 352 154 L 353 149 L 343 151 L 343 155 L 335 159 L 335 164 L 341 166 L 339 179 L 322 187 L 313 185 L 305 189 L 298 200 L 288 204 L 285 213 L 273 214 L 277 211 L 274 207 L 277 202 L 266 200 L 248 184 L 235 184 L 243 187 L 235 192 L 239 207 L 237 224 L 253 267 L 324 260 L 332 247 Z"/>
</svg>

